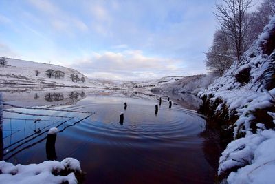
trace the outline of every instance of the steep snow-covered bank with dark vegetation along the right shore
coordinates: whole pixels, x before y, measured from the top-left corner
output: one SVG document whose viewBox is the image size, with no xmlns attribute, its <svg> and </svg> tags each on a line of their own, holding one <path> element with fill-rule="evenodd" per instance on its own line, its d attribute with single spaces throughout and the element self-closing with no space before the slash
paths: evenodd
<svg viewBox="0 0 275 184">
<path fill-rule="evenodd" d="M 268 82 L 274 77 L 268 71 L 274 70 L 275 52 L 273 50 L 273 53 L 266 54 L 265 50 L 265 44 L 268 43 L 268 39 L 274 37 L 274 32 L 275 17 L 265 27 L 252 48 L 245 52 L 240 63 L 235 62 L 208 89 L 199 92 L 199 96 L 213 95 L 210 99 L 212 102 L 217 98 L 222 99 L 230 113 L 236 112 L 239 116 L 234 123 L 235 140 L 228 144 L 219 161 L 219 174 L 239 168 L 236 172 L 230 172 L 228 183 L 275 181 L 275 89 L 270 89 Z M 245 78 L 245 73 L 248 74 L 248 78 Z M 241 76 L 243 78 L 239 80 L 240 74 L 244 77 Z M 217 107 L 217 111 L 221 105 Z M 257 119 L 257 111 L 265 118 L 260 116 Z M 273 119 L 273 124 L 267 122 L 267 119 Z M 252 127 L 252 122 L 256 125 L 256 130 Z"/>
</svg>

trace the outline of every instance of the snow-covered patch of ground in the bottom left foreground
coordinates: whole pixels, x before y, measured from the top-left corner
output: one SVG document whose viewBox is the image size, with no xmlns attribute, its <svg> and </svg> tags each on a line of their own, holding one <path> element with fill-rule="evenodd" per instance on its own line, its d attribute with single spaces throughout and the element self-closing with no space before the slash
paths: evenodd
<svg viewBox="0 0 275 184">
<path fill-rule="evenodd" d="M 58 175 L 61 170 L 65 169 L 81 172 L 79 161 L 73 158 L 66 158 L 61 162 L 44 161 L 43 163 L 30 165 L 13 165 L 12 163 L 0 161 L 0 182 L 5 184 L 60 184 L 66 181 L 69 184 L 78 183 L 74 172 L 67 174 L 67 176 Z M 57 176 L 53 174 L 54 172 Z"/>
</svg>

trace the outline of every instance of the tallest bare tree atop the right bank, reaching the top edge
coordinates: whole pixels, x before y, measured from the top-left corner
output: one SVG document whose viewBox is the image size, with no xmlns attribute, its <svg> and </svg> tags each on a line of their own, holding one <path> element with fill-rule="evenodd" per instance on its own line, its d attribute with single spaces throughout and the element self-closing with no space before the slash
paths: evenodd
<svg viewBox="0 0 275 184">
<path fill-rule="evenodd" d="M 248 49 L 250 41 L 250 20 L 248 9 L 252 0 L 223 0 L 216 5 L 217 12 L 214 12 L 223 34 L 228 37 L 228 45 L 232 44 L 234 56 L 240 61 L 243 52 Z"/>
</svg>

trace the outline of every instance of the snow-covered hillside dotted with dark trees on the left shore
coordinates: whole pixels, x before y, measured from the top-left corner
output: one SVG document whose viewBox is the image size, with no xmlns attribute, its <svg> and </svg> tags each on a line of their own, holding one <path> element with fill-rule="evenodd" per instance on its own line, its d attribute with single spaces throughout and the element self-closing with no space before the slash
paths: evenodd
<svg viewBox="0 0 275 184">
<path fill-rule="evenodd" d="M 51 65 L 46 63 L 36 63 L 32 61 L 24 61 L 20 59 L 5 58 L 7 65 L 0 66 L 0 83 L 15 83 L 15 84 L 32 84 L 32 85 L 69 85 L 69 86 L 96 86 L 98 83 L 89 80 L 87 76 L 80 72 L 59 65 Z M 64 76 L 49 77 L 46 74 L 47 70 L 63 72 Z M 37 71 L 37 73 L 36 73 Z M 37 74 L 37 76 L 36 76 Z M 83 81 L 71 79 L 71 75 L 83 77 Z"/>
</svg>

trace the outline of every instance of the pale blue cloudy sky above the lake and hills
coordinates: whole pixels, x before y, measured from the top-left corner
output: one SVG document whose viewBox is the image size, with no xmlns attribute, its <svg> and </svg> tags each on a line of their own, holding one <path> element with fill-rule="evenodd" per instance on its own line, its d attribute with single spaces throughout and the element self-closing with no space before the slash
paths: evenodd
<svg viewBox="0 0 275 184">
<path fill-rule="evenodd" d="M 215 0 L 1 0 L 0 57 L 65 65 L 89 77 L 206 73 Z"/>
</svg>

